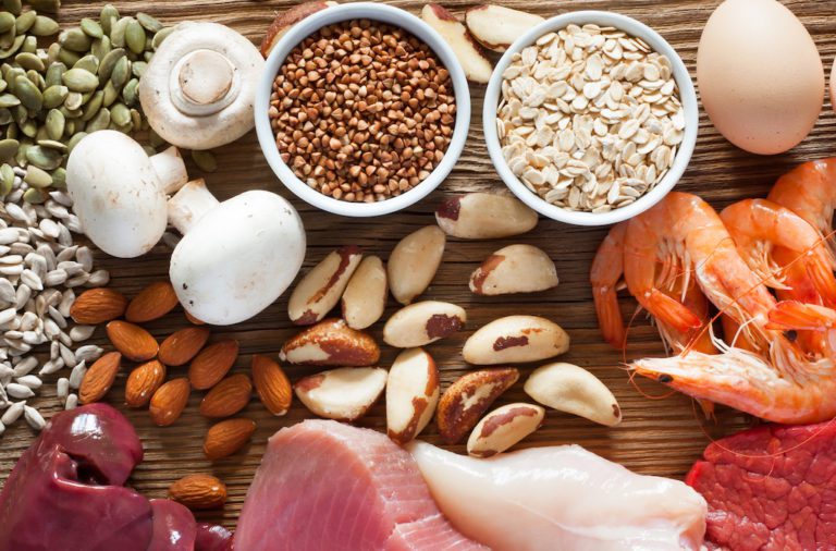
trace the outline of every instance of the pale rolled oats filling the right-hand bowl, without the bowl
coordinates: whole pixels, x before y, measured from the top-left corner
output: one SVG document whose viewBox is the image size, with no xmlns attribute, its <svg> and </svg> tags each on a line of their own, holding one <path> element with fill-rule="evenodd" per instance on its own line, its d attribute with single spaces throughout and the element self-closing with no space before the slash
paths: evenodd
<svg viewBox="0 0 836 551">
<path fill-rule="evenodd" d="M 496 130 L 508 168 L 533 193 L 607 212 L 667 174 L 685 114 L 666 57 L 616 28 L 569 25 L 514 56 Z"/>
</svg>

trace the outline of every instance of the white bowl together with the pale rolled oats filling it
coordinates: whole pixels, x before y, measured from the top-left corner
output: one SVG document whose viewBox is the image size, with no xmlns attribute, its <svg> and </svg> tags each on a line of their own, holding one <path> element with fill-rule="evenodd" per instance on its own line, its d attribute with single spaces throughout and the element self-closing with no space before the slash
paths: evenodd
<svg viewBox="0 0 836 551">
<path fill-rule="evenodd" d="M 579 11 L 520 36 L 494 69 L 485 143 L 511 191 L 541 215 L 606 225 L 681 177 L 698 105 L 681 58 L 647 25 Z"/>
</svg>

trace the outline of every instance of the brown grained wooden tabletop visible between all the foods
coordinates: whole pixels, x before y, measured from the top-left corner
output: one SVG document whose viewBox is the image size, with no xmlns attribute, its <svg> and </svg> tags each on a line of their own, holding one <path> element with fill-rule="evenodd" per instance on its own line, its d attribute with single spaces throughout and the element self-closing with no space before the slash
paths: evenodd
<svg viewBox="0 0 836 551">
<path fill-rule="evenodd" d="M 102 3 L 65 0 L 59 20 L 62 26 L 77 25 L 82 17 L 98 16 Z M 295 2 L 146 0 L 114 3 L 123 14 L 133 15 L 137 11 L 147 11 L 169 24 L 188 19 L 223 23 L 260 42 L 273 13 Z M 696 77 L 694 62 L 700 32 L 720 0 L 501 0 L 500 3 L 533 11 L 545 17 L 583 9 L 612 10 L 631 15 L 659 30 L 685 59 L 692 77 Z M 784 3 L 801 19 L 812 34 L 829 72 L 836 52 L 836 17 L 833 16 L 836 1 L 785 0 Z M 394 1 L 392 4 L 416 14 L 421 7 L 419 2 L 405 0 Z M 447 0 L 444 5 L 460 15 L 474 3 Z M 258 148 L 255 133 L 217 151 L 220 168 L 216 173 L 206 175 L 208 185 L 222 199 L 253 188 L 268 189 L 291 198 L 299 210 L 308 232 L 306 268 L 318 262 L 328 252 L 345 244 L 360 245 L 368 253 L 385 259 L 401 237 L 420 226 L 434 223 L 432 212 L 444 197 L 463 192 L 504 188 L 491 164 L 482 138 L 480 113 L 484 87 L 471 85 L 470 91 L 474 118 L 467 146 L 458 164 L 435 193 L 419 205 L 397 215 L 376 219 L 340 218 L 314 210 L 296 200 L 268 168 Z M 736 149 L 720 136 L 703 112 L 700 117 L 697 150 L 677 188 L 697 193 L 717 208 L 745 197 L 762 197 L 775 179 L 794 164 L 834 155 L 834 144 L 836 118 L 829 100 L 824 106 L 812 134 L 789 154 L 777 157 L 757 157 Z M 193 177 L 201 175 L 193 166 L 189 166 L 189 171 Z M 750 426 L 752 419 L 737 412 L 720 408 L 716 421 L 706 423 L 698 415 L 690 399 L 671 395 L 666 389 L 648 380 L 637 380 L 639 388 L 630 383 L 623 367 L 625 357 L 611 350 L 600 338 L 588 284 L 590 261 L 605 232 L 605 229 L 574 228 L 541 219 L 536 231 L 511 240 L 448 240 L 444 262 L 425 297 L 453 302 L 467 308 L 468 327 L 454 338 L 430 345 L 428 351 L 441 366 L 443 387 L 446 387 L 450 381 L 468 370 L 462 359 L 460 348 L 465 339 L 476 328 L 512 314 L 551 318 L 563 326 L 571 336 L 571 348 L 561 359 L 578 364 L 599 376 L 618 399 L 624 412 L 624 421 L 620 426 L 610 429 L 581 418 L 550 412 L 542 429 L 522 445 L 579 443 L 638 473 L 683 477 L 710 438 Z M 557 265 L 560 286 L 532 295 L 472 295 L 467 285 L 470 272 L 491 252 L 512 243 L 528 243 L 548 252 Z M 113 259 L 100 253 L 97 264 L 111 271 L 111 285 L 114 289 L 133 296 L 144 285 L 167 278 L 169 255 L 170 250 L 160 245 L 147 256 L 134 260 Z M 635 303 L 624 299 L 623 307 L 625 315 L 629 316 Z M 394 310 L 394 301 L 390 299 L 388 315 Z M 177 309 L 148 327 L 161 340 L 185 323 L 182 310 Z M 382 323 L 377 323 L 373 327 L 372 332 L 377 338 L 381 335 L 381 326 Z M 285 296 L 247 322 L 214 328 L 213 338 L 234 338 L 241 341 L 242 353 L 234 369 L 246 372 L 253 354 L 275 356 L 282 342 L 295 331 L 287 320 Z M 94 341 L 106 345 L 102 329 L 97 330 Z M 628 357 L 664 353 L 655 331 L 648 326 L 643 316 L 637 317 L 629 341 Z M 394 355 L 394 350 L 384 348 L 382 365 L 388 366 Z M 525 380 L 533 367 L 537 366 L 521 366 L 520 380 Z M 254 395 L 244 411 L 244 415 L 258 424 L 253 443 L 232 457 L 210 463 L 205 460 L 201 451 L 202 436 L 209 425 L 197 413 L 201 393 L 193 392 L 186 413 L 174 426 L 157 428 L 150 423 L 146 411 L 128 411 L 124 407 L 124 380 L 127 371 L 123 369 L 108 401 L 125 412 L 136 426 L 145 445 L 145 461 L 135 470 L 131 483 L 147 497 L 157 498 L 163 497 L 168 486 L 183 475 L 214 473 L 228 483 L 230 500 L 223 512 L 198 516 L 234 526 L 267 439 L 281 427 L 293 425 L 309 416 L 307 411 L 295 402 L 287 416 L 272 417 Z M 291 379 L 295 380 L 312 370 L 287 367 L 286 371 Z M 66 376 L 66 372 L 60 375 Z M 183 372 L 183 368 L 170 370 L 173 376 L 181 376 Z M 500 403 L 526 397 L 520 382 L 508 391 Z M 54 378 L 48 379 L 42 396 L 35 403 L 47 417 L 60 411 L 54 396 Z M 383 406 L 377 405 L 360 425 L 384 428 Z M 34 437 L 34 432 L 25 423 L 20 421 L 0 438 L 0 481 L 8 477 L 14 462 Z M 434 425 L 428 427 L 422 438 L 439 443 Z M 463 448 L 453 446 L 457 451 Z"/>
</svg>

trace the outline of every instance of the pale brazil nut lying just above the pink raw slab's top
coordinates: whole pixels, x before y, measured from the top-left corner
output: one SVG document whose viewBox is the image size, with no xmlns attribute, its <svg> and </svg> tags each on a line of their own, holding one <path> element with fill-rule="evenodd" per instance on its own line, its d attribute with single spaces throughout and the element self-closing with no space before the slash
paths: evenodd
<svg viewBox="0 0 836 551">
<path fill-rule="evenodd" d="M 343 367 L 299 380 L 294 390 L 310 412 L 327 419 L 359 419 L 378 401 L 386 385 L 386 370 L 379 367 Z"/>
</svg>

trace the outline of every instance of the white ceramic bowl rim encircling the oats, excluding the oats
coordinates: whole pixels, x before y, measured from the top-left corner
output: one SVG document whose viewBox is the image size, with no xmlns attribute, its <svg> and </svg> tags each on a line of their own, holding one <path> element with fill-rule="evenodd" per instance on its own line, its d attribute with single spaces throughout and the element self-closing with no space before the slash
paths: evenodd
<svg viewBox="0 0 836 551">
<path fill-rule="evenodd" d="M 502 147 L 496 134 L 496 106 L 502 94 L 502 73 L 505 72 L 511 58 L 515 53 L 530 46 L 539 37 L 546 33 L 560 30 L 567 25 L 576 24 L 582 26 L 592 23 L 599 26 L 612 26 L 625 30 L 627 34 L 641 38 L 659 53 L 662 53 L 671 60 L 673 65 L 673 76 L 679 88 L 679 96 L 685 111 L 685 137 L 674 159 L 674 164 L 665 174 L 665 177 L 659 182 L 653 189 L 636 199 L 635 203 L 610 212 L 592 213 L 576 212 L 561 207 L 556 207 L 541 199 L 537 194 L 528 189 L 522 182 L 514 175 L 502 156 Z M 553 220 L 566 222 L 575 225 L 607 225 L 627 220 L 649 209 L 659 203 L 667 192 L 669 192 L 681 177 L 693 152 L 693 146 L 697 144 L 697 130 L 699 126 L 699 111 L 697 106 L 697 94 L 693 90 L 693 82 L 688 74 L 688 70 L 683 63 L 681 58 L 660 36 L 649 26 L 626 15 L 602 11 L 578 11 L 564 13 L 536 26 L 525 35 L 520 36 L 511 48 L 507 49 L 496 68 L 493 70 L 491 81 L 488 84 L 488 91 L 484 97 L 484 110 L 482 112 L 482 124 L 484 126 L 484 140 L 488 144 L 488 151 L 491 160 L 500 176 L 505 184 L 514 192 L 522 203 L 537 210 L 543 216 Z"/>
</svg>

